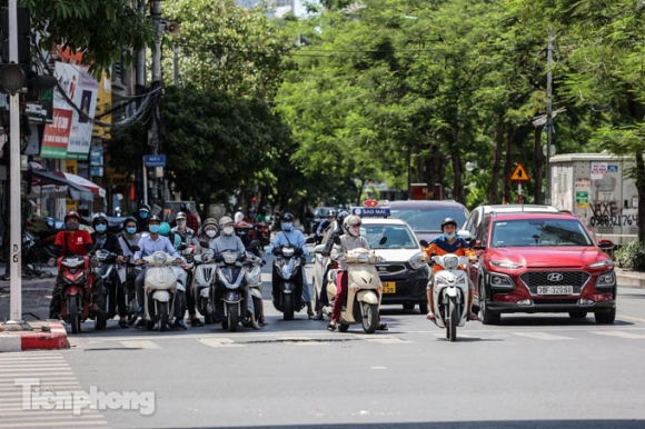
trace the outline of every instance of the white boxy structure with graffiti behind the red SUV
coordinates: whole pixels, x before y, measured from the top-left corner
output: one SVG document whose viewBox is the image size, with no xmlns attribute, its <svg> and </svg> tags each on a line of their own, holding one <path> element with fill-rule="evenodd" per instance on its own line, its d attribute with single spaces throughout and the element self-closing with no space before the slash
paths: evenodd
<svg viewBox="0 0 645 429">
<path fill-rule="evenodd" d="M 550 158 L 550 204 L 583 219 L 597 239 L 626 245 L 638 235 L 633 157 L 564 153 Z"/>
</svg>

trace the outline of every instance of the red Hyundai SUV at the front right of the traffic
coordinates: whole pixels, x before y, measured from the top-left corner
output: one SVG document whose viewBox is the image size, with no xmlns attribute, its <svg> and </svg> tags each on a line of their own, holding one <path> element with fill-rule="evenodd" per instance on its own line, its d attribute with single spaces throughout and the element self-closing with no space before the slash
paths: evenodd
<svg viewBox="0 0 645 429">
<path fill-rule="evenodd" d="M 484 325 L 506 312 L 568 312 L 597 323 L 616 318 L 614 263 L 570 212 L 489 213 L 472 238 L 479 260 L 470 267 L 478 285 Z"/>
</svg>

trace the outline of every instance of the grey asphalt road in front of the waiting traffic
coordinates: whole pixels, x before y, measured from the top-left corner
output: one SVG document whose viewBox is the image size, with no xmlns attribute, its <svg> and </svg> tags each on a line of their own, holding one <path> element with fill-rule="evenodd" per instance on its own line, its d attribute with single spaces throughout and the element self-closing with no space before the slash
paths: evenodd
<svg viewBox="0 0 645 429">
<path fill-rule="evenodd" d="M 110 322 L 93 332 L 86 323 L 70 350 L 0 355 L 0 399 L 9 400 L 0 401 L 0 428 L 645 427 L 643 289 L 619 288 L 613 326 L 593 316 L 505 315 L 496 327 L 468 322 L 453 343 L 398 306 L 383 310 L 389 331 L 367 336 L 358 326 L 328 332 L 305 313 L 284 321 L 268 283 L 265 298 L 261 331 Z M 44 408 L 43 392 L 60 406 L 73 391 L 112 402 L 80 416 L 23 411 L 26 398 Z"/>
</svg>

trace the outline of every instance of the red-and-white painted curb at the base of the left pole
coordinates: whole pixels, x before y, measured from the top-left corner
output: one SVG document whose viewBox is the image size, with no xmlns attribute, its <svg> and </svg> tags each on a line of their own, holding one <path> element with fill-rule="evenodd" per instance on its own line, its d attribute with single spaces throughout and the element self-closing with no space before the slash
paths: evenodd
<svg viewBox="0 0 645 429">
<path fill-rule="evenodd" d="M 60 321 L 48 321 L 50 332 L 2 332 L 0 333 L 0 352 L 27 350 L 69 349 L 67 330 Z"/>
</svg>

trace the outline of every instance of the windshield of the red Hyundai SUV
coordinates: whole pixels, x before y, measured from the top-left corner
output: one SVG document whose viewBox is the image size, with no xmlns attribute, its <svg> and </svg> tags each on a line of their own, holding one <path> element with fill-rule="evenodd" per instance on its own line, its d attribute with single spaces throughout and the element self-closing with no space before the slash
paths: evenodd
<svg viewBox="0 0 645 429">
<path fill-rule="evenodd" d="M 518 219 L 496 221 L 492 247 L 593 246 L 577 219 Z"/>
</svg>

